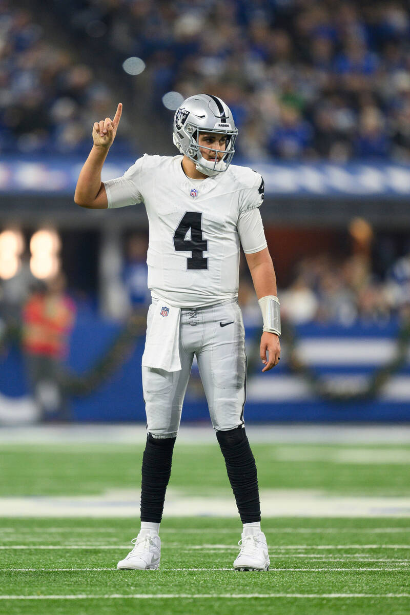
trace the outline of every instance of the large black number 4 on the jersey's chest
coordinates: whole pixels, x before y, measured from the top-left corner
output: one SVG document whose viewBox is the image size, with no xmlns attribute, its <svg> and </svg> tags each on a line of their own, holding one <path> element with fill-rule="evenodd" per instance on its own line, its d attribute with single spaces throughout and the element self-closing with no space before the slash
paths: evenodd
<svg viewBox="0 0 410 615">
<path fill-rule="evenodd" d="M 174 233 L 174 247 L 177 252 L 191 252 L 187 259 L 187 269 L 208 269 L 208 259 L 203 252 L 208 250 L 208 242 L 202 237 L 202 212 L 185 212 Z M 191 239 L 185 239 L 191 229 Z"/>
</svg>

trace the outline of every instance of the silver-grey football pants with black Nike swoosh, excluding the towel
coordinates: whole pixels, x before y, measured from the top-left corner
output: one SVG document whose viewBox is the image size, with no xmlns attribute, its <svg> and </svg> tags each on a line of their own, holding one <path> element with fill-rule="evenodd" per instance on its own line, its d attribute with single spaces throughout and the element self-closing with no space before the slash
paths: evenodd
<svg viewBox="0 0 410 615">
<path fill-rule="evenodd" d="M 152 304 L 148 310 L 147 335 L 151 322 Z M 194 355 L 213 428 L 227 431 L 244 424 L 245 329 L 242 312 L 234 299 L 206 308 L 181 309 L 181 370 L 142 368 L 147 431 L 154 437 L 171 438 L 178 434 Z"/>
</svg>

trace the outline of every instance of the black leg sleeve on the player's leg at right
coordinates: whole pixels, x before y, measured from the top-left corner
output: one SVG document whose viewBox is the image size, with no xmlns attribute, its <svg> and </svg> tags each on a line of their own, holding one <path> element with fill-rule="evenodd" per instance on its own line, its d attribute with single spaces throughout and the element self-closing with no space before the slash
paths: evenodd
<svg viewBox="0 0 410 615">
<path fill-rule="evenodd" d="M 240 426 L 229 431 L 217 431 L 216 437 L 225 458 L 229 482 L 242 523 L 260 521 L 258 475 L 245 429 Z"/>
</svg>

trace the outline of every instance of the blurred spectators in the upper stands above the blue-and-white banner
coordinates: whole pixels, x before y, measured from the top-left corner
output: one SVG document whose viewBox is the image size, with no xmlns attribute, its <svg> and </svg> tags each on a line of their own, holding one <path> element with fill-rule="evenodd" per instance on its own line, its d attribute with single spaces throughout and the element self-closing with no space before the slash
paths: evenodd
<svg viewBox="0 0 410 615">
<path fill-rule="evenodd" d="M 359 0 L 54 0 L 68 31 L 146 63 L 135 95 L 221 96 L 246 159 L 410 159 L 410 7 Z M 96 47 L 97 46 L 97 47 Z M 128 81 L 129 82 L 129 81 Z M 148 84 L 148 85 L 147 85 Z M 0 0 L 0 148 L 81 151 L 112 113 L 90 65 Z M 136 118 L 135 128 L 138 130 Z M 169 135 L 164 135 L 169 141 Z M 127 148 L 116 141 L 116 151 Z"/>
</svg>

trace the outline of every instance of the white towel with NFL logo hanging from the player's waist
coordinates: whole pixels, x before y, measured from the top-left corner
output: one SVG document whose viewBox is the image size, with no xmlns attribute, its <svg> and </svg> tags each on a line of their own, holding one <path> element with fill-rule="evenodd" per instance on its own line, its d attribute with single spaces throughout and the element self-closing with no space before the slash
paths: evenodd
<svg viewBox="0 0 410 615">
<path fill-rule="evenodd" d="M 142 364 L 165 371 L 181 369 L 179 359 L 179 322 L 181 308 L 163 300 L 152 303 L 151 326 L 145 340 Z"/>
</svg>

